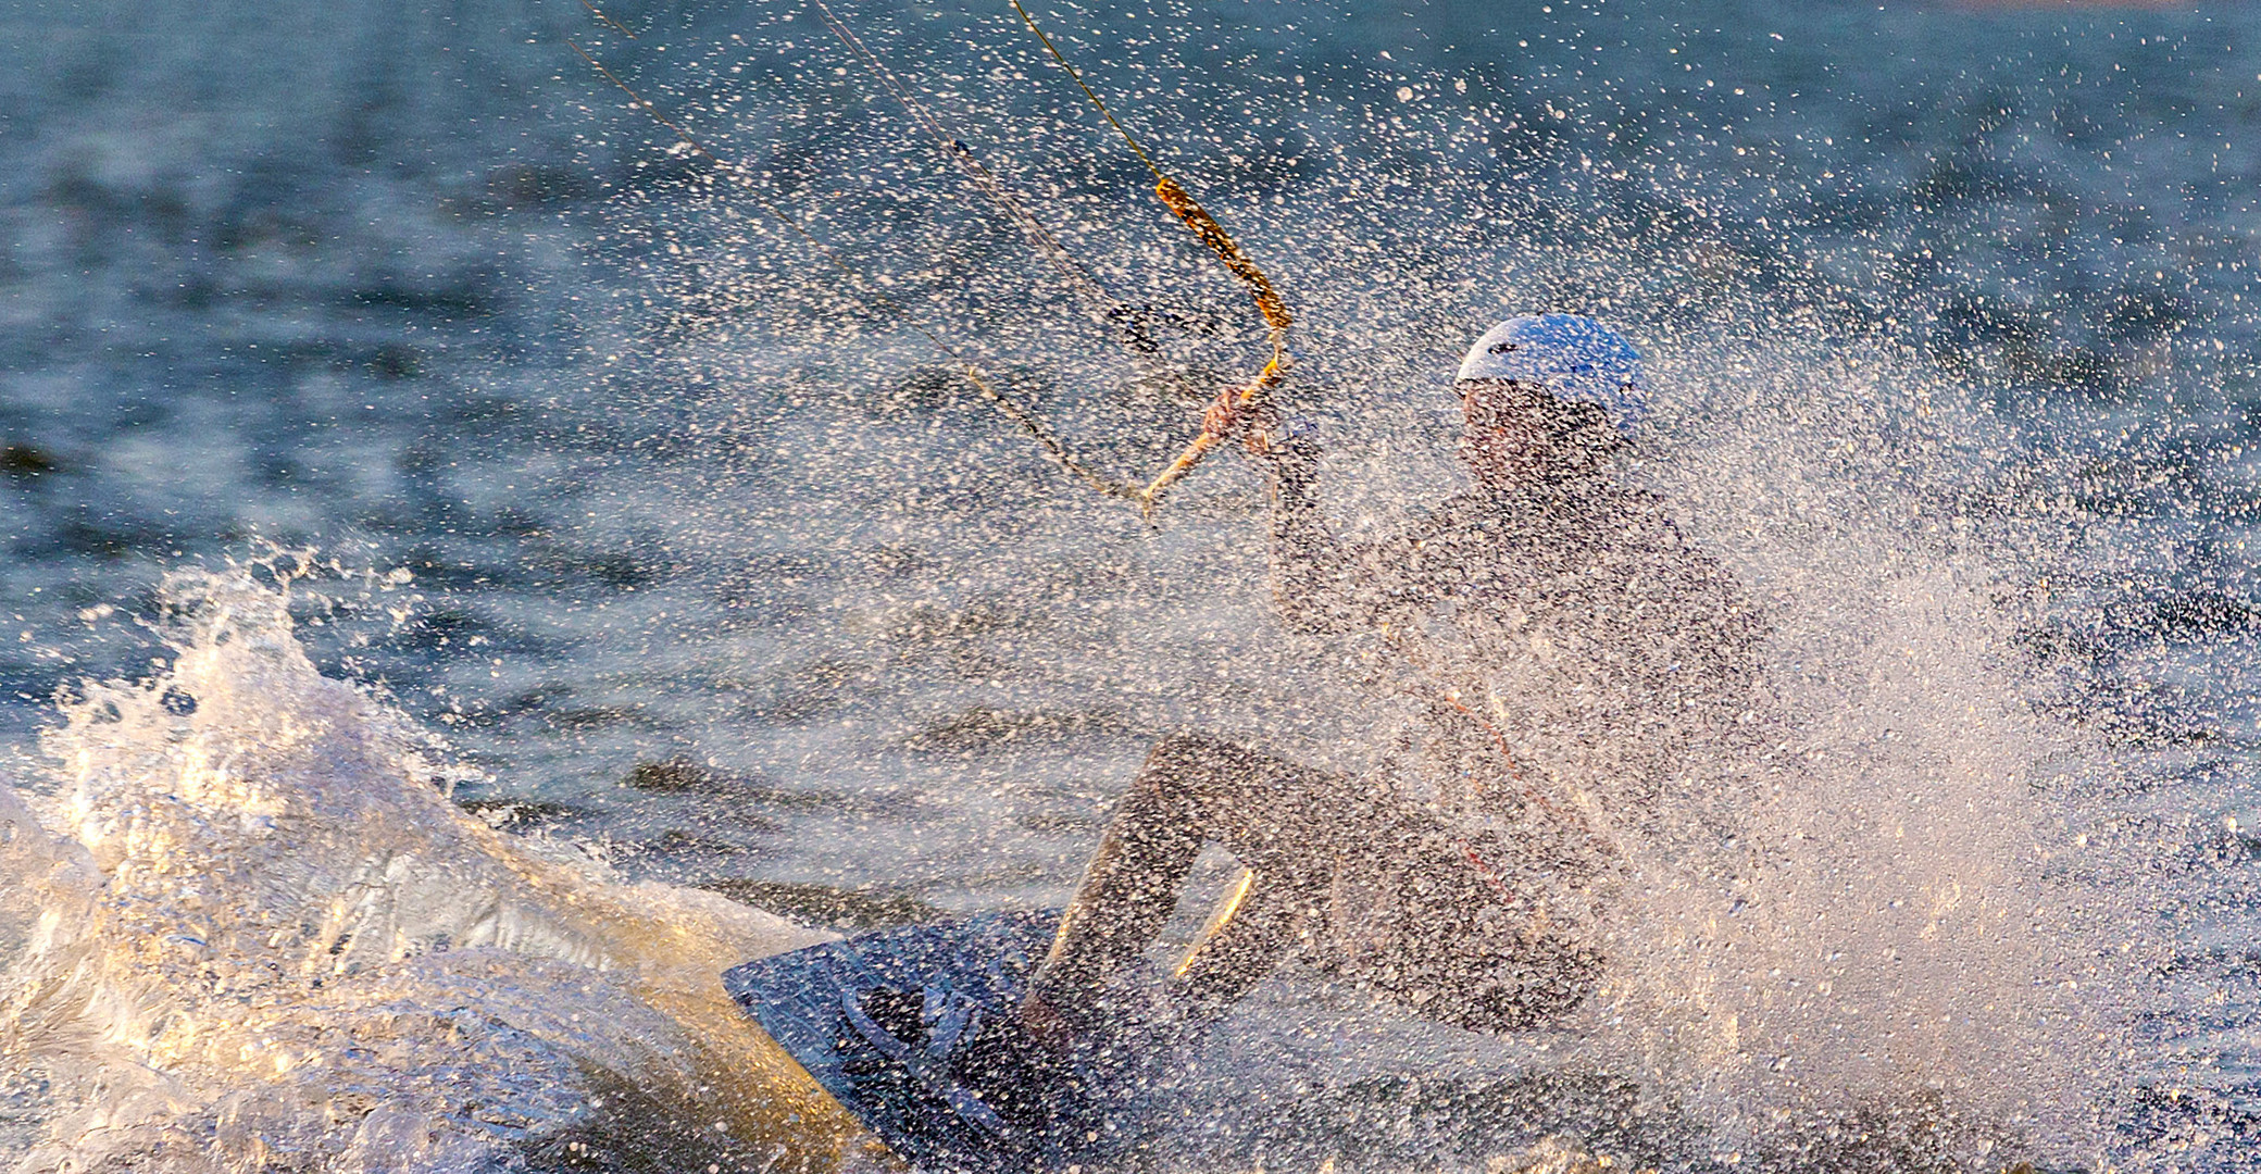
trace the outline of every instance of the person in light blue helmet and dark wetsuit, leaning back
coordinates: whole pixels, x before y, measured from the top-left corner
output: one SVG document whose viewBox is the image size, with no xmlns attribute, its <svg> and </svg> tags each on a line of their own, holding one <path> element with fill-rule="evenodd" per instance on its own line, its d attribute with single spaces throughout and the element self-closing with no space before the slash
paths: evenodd
<svg viewBox="0 0 2261 1174">
<path fill-rule="evenodd" d="M 1456 391 L 1472 489 L 1370 545 L 1329 534 L 1309 443 L 1212 409 L 1271 475 L 1280 615 L 1372 665 L 1400 731 L 1361 778 L 1203 735 L 1155 746 L 1031 982 L 1036 1038 L 1099 1027 L 1205 844 L 1244 873 L 1173 973 L 1196 1022 L 1291 950 L 1485 1031 L 1556 1018 L 1594 984 L 1617 862 L 1630 837 L 1669 839 L 1646 826 L 1666 789 L 1716 783 L 1707 762 L 1750 719 L 1759 629 L 1725 570 L 1623 484 L 1646 412 L 1623 337 L 1510 319 Z"/>
</svg>

